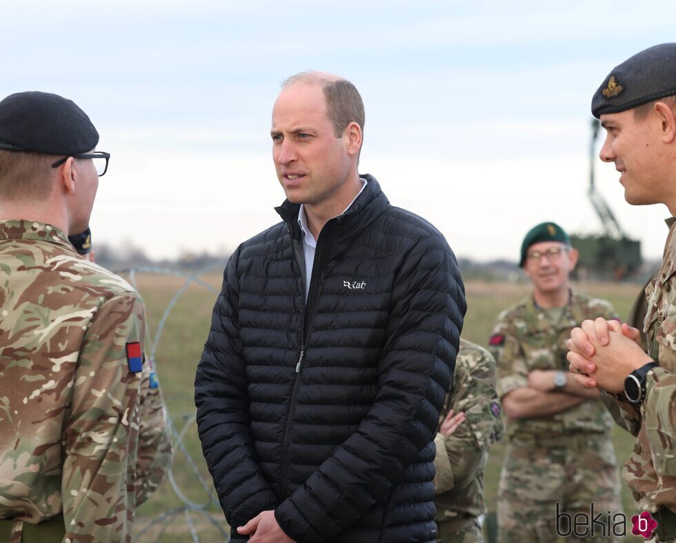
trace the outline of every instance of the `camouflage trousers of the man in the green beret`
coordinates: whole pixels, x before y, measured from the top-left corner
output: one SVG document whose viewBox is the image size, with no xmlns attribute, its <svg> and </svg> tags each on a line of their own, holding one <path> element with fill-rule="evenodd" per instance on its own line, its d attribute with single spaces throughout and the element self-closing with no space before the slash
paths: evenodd
<svg viewBox="0 0 676 543">
<path fill-rule="evenodd" d="M 608 530 L 589 522 L 575 535 L 569 520 L 577 513 Z M 498 490 L 499 543 L 552 543 L 559 535 L 566 543 L 617 542 L 615 513 L 622 500 L 608 434 L 510 440 Z"/>
</svg>

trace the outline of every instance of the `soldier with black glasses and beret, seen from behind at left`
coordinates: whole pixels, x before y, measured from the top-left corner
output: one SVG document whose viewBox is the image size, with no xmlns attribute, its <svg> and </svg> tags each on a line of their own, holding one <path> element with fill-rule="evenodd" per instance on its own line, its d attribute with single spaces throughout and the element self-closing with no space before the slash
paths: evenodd
<svg viewBox="0 0 676 543">
<path fill-rule="evenodd" d="M 67 238 L 86 228 L 108 164 L 98 139 L 57 95 L 0 102 L 3 542 L 130 542 L 170 463 L 141 298 Z"/>
</svg>

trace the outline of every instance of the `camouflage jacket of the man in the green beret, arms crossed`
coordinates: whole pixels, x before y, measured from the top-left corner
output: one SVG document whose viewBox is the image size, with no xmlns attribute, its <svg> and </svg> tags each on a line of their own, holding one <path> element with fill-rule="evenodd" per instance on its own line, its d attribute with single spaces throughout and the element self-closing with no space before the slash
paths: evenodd
<svg viewBox="0 0 676 543">
<path fill-rule="evenodd" d="M 533 370 L 568 372 L 566 339 L 570 330 L 584 319 L 615 319 L 615 310 L 606 300 L 571 294 L 557 324 L 535 304 L 533 297 L 504 310 L 490 336 L 489 350 L 497 361 L 497 391 L 500 398 L 528 386 Z M 566 411 L 547 417 L 507 419 L 509 436 L 557 437 L 579 432 L 608 432 L 613 417 L 601 399 L 589 399 Z"/>
</svg>

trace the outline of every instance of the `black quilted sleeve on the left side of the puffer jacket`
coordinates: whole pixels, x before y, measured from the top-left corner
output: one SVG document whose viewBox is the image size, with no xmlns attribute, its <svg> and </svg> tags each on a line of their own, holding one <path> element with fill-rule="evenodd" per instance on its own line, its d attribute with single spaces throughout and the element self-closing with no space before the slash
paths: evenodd
<svg viewBox="0 0 676 543">
<path fill-rule="evenodd" d="M 235 532 L 261 511 L 275 509 L 277 497 L 258 464 L 249 431 L 246 367 L 237 322 L 239 249 L 223 274 L 211 330 L 197 366 L 195 405 L 202 451 L 219 501 Z"/>
</svg>

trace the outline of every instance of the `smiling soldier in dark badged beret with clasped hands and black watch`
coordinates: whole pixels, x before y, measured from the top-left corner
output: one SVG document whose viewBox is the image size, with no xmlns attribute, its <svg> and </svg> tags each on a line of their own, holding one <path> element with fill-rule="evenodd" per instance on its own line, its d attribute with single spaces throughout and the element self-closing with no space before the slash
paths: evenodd
<svg viewBox="0 0 676 543">
<path fill-rule="evenodd" d="M 676 215 L 676 43 L 648 48 L 616 66 L 592 99 L 606 128 L 601 159 L 622 173 L 630 204 L 665 204 Z M 657 528 L 641 535 L 676 542 L 676 228 L 646 287 L 648 353 L 640 332 L 597 319 L 575 328 L 568 360 L 577 382 L 598 386 L 622 408 L 637 438 L 622 478 Z"/>
</svg>

